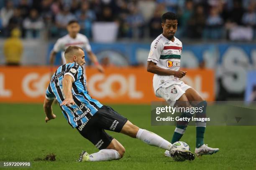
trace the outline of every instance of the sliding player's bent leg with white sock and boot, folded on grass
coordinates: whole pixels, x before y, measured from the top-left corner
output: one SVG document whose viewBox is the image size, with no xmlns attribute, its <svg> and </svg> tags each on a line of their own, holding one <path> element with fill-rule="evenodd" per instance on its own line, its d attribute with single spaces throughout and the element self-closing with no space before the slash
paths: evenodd
<svg viewBox="0 0 256 170">
<path fill-rule="evenodd" d="M 77 162 L 88 161 L 105 161 L 105 160 L 118 160 L 123 158 L 125 148 L 117 140 L 113 139 L 106 149 L 102 149 L 97 153 L 88 154 L 82 151 Z"/>
</svg>

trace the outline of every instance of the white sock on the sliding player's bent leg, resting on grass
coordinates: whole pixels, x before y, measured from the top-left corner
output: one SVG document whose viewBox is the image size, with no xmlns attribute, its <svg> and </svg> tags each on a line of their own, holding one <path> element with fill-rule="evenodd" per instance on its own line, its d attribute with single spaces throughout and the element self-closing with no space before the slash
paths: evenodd
<svg viewBox="0 0 256 170">
<path fill-rule="evenodd" d="M 118 160 L 121 156 L 118 151 L 113 149 L 102 149 L 97 153 L 92 153 L 89 156 L 90 161 L 103 161 L 103 160 Z"/>
</svg>

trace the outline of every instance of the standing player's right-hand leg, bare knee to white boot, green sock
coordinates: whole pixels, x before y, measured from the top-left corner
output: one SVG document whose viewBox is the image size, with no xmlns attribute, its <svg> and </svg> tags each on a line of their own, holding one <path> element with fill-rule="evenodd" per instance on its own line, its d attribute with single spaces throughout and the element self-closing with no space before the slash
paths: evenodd
<svg viewBox="0 0 256 170">
<path fill-rule="evenodd" d="M 207 101 L 203 100 L 202 97 L 198 94 L 198 92 L 189 88 L 186 90 L 186 96 L 189 101 L 197 102 L 195 107 L 202 107 L 202 113 L 197 113 L 196 117 L 206 117 L 206 108 Z M 193 103 L 192 102 L 192 103 Z M 205 134 L 206 122 L 196 122 L 196 147 L 195 154 L 197 156 L 200 155 L 212 155 L 213 153 L 217 153 L 219 148 L 210 148 L 204 143 L 204 134 Z"/>
</svg>

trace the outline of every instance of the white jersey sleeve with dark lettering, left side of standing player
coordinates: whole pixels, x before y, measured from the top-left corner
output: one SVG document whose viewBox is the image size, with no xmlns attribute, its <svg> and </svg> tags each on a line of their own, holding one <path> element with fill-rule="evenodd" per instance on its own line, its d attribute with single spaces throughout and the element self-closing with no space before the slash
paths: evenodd
<svg viewBox="0 0 256 170">
<path fill-rule="evenodd" d="M 150 52 L 148 54 L 148 61 L 152 61 L 157 64 L 161 56 L 161 51 L 163 49 L 163 44 L 159 42 L 159 40 L 154 40 L 151 43 Z"/>
</svg>

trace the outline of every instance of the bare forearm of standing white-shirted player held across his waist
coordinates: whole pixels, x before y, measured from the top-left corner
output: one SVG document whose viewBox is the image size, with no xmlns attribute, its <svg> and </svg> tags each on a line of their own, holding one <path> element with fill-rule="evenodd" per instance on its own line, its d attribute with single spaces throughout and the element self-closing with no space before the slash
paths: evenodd
<svg viewBox="0 0 256 170">
<path fill-rule="evenodd" d="M 157 75 L 174 75 L 175 77 L 182 78 L 187 74 L 187 71 L 174 71 L 174 70 L 167 70 L 161 67 L 158 67 L 155 62 L 148 61 L 147 62 L 147 71 L 157 74 Z"/>
</svg>

